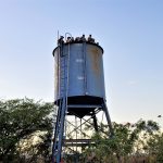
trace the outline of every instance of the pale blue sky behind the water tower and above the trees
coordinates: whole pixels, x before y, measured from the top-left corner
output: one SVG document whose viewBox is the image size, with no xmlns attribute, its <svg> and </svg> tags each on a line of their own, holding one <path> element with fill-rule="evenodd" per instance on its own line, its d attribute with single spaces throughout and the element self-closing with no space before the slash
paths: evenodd
<svg viewBox="0 0 163 163">
<path fill-rule="evenodd" d="M 104 49 L 112 121 L 163 114 L 162 0 L 0 0 L 0 98 L 53 101 L 57 33 Z"/>
</svg>

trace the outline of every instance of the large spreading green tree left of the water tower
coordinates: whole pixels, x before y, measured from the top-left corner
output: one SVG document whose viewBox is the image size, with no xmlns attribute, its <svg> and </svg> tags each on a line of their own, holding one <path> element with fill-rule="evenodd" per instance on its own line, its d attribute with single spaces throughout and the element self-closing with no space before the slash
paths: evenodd
<svg viewBox="0 0 163 163">
<path fill-rule="evenodd" d="M 42 139 L 37 145 L 37 154 L 48 151 L 47 141 L 51 139 L 52 103 L 34 101 L 32 99 L 15 99 L 0 101 L 0 161 L 14 162 L 22 156 L 18 147 L 23 140 L 29 139 L 38 131 L 43 131 Z M 45 142 L 43 142 L 45 141 Z M 27 153 L 26 153 L 27 154 Z M 45 154 L 47 155 L 47 153 Z"/>
</svg>

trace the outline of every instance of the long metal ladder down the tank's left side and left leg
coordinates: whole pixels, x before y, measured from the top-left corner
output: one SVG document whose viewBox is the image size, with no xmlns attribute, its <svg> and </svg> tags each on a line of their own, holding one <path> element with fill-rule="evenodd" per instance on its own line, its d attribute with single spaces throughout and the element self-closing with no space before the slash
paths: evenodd
<svg viewBox="0 0 163 163">
<path fill-rule="evenodd" d="M 62 47 L 61 47 L 62 48 Z M 59 62 L 60 64 L 60 97 L 63 97 L 59 100 L 58 106 L 58 115 L 55 120 L 55 129 L 54 129 L 54 139 L 52 147 L 52 163 L 60 163 L 61 153 L 62 153 L 62 145 L 63 145 L 63 135 L 64 135 L 64 123 L 65 123 L 65 114 L 67 110 L 67 87 L 68 87 L 68 60 L 66 57 L 61 58 L 61 53 L 59 53 Z M 67 55 L 68 58 L 68 55 Z M 67 61 L 67 62 L 66 62 Z"/>
</svg>

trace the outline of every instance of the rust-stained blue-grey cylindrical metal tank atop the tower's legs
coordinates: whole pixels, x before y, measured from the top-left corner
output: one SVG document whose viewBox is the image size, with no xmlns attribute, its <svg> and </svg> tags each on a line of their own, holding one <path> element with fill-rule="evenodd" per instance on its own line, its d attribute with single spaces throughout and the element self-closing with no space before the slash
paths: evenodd
<svg viewBox="0 0 163 163">
<path fill-rule="evenodd" d="M 68 103 L 96 104 L 105 99 L 103 49 L 90 40 L 61 40 L 53 50 L 54 101 L 67 97 Z"/>
</svg>

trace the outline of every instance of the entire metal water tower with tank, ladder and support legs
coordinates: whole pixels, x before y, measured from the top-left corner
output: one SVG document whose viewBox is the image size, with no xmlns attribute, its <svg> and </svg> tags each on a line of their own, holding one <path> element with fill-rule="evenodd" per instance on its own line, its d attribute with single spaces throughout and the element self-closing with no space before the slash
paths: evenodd
<svg viewBox="0 0 163 163">
<path fill-rule="evenodd" d="M 68 36 L 68 37 L 67 37 Z M 63 147 L 87 146 L 89 139 L 83 137 L 67 138 L 67 118 L 73 116 L 80 120 L 79 126 L 74 126 L 74 131 L 80 129 L 82 125 L 90 123 L 95 131 L 99 131 L 99 112 L 103 112 L 111 129 L 111 120 L 105 103 L 105 88 L 103 74 L 103 49 L 89 35 L 85 38 L 75 39 L 67 33 L 61 36 L 58 46 L 53 50 L 54 57 L 54 104 L 58 108 L 54 139 L 53 162 L 59 163 Z M 73 131 L 72 131 L 73 133 Z M 88 131 L 89 133 L 89 131 Z M 74 137 L 74 135 L 73 135 Z"/>
</svg>

